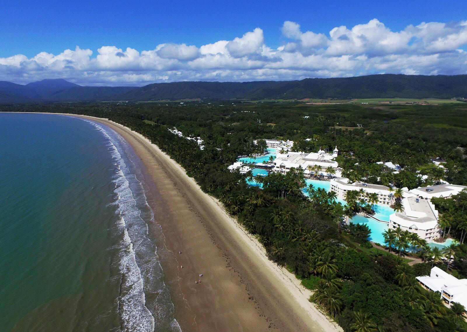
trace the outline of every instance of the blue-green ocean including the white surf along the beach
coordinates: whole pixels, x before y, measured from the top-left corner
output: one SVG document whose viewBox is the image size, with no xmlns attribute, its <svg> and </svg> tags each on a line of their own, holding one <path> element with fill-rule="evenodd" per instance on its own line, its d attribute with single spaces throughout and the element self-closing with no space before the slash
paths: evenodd
<svg viewBox="0 0 467 332">
<path fill-rule="evenodd" d="M 127 142 L 88 120 L 0 113 L 0 147 L 1 331 L 180 331 Z"/>
</svg>

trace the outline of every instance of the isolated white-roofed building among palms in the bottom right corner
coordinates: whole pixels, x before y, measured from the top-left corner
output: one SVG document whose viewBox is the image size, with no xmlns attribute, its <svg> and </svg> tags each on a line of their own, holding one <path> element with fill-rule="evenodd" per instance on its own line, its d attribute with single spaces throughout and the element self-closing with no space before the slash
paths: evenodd
<svg viewBox="0 0 467 332">
<path fill-rule="evenodd" d="M 434 267 L 430 275 L 417 276 L 418 282 L 428 290 L 439 292 L 441 299 L 462 304 L 467 308 L 467 279 L 457 279 L 440 268 Z"/>
</svg>

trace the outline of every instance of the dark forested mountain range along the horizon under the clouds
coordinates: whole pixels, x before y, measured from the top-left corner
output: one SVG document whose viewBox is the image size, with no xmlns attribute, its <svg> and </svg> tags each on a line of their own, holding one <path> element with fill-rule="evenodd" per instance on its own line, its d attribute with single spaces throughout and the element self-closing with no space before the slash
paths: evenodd
<svg viewBox="0 0 467 332">
<path fill-rule="evenodd" d="M 177 99 L 466 98 L 467 75 L 381 74 L 300 81 L 173 82 L 142 87 L 81 86 L 64 79 L 27 85 L 0 81 L 0 102 Z"/>
</svg>

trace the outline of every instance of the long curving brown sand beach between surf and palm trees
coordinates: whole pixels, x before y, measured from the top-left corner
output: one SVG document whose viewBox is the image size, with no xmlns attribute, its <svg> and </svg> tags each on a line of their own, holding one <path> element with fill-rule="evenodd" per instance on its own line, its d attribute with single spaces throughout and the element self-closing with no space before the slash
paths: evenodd
<svg viewBox="0 0 467 332">
<path fill-rule="evenodd" d="M 152 178 L 149 203 L 170 253 L 162 264 L 183 331 L 342 331 L 308 301 L 311 292 L 269 261 L 262 245 L 156 145 L 112 121 L 86 118 L 122 135 Z"/>
</svg>

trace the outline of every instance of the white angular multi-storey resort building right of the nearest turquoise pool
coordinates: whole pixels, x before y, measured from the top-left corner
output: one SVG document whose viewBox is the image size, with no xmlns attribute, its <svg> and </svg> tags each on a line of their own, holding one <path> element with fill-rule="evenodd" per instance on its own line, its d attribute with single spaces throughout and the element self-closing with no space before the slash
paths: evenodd
<svg viewBox="0 0 467 332">
<path fill-rule="evenodd" d="M 400 227 L 403 231 L 417 233 L 420 239 L 427 242 L 439 238 L 438 211 L 432 202 L 416 197 L 402 199 L 403 212 L 395 212 L 389 216 L 389 229 Z"/>
</svg>

